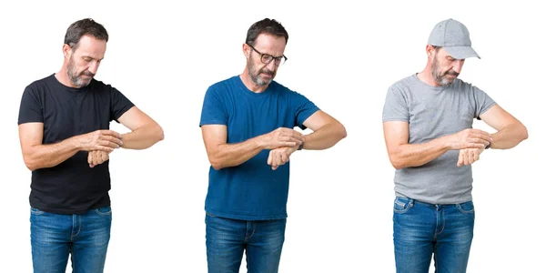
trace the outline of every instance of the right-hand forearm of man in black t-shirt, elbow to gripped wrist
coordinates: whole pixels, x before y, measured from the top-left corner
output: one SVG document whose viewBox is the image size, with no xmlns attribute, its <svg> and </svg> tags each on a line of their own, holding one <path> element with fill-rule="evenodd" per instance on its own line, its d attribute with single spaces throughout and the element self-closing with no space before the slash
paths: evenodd
<svg viewBox="0 0 546 273">
<path fill-rule="evenodd" d="M 136 130 L 121 135 L 123 145 L 126 149 L 146 149 L 163 140 L 163 129 L 157 124 L 146 125 Z"/>
</svg>

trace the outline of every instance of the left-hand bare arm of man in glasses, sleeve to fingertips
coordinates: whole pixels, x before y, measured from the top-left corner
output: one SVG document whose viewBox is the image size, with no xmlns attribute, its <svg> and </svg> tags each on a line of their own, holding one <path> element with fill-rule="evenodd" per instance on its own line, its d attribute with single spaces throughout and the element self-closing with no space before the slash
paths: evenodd
<svg viewBox="0 0 546 273">
<path fill-rule="evenodd" d="M 299 146 L 303 136 L 288 128 L 278 128 L 268 134 L 250 138 L 237 144 L 227 144 L 227 126 L 201 126 L 203 141 L 210 164 L 215 169 L 235 167 L 258 155 L 263 149 Z"/>
</svg>

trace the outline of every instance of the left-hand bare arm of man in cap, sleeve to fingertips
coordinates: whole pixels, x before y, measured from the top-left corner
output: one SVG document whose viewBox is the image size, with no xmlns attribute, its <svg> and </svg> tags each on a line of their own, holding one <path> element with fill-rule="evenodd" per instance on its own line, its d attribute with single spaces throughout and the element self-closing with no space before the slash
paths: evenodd
<svg viewBox="0 0 546 273">
<path fill-rule="evenodd" d="M 410 124 L 405 121 L 384 122 L 383 133 L 390 163 L 396 169 L 425 165 L 450 149 L 482 148 L 487 146 L 491 140 L 486 132 L 465 129 L 453 135 L 441 136 L 430 142 L 409 144 Z"/>
</svg>

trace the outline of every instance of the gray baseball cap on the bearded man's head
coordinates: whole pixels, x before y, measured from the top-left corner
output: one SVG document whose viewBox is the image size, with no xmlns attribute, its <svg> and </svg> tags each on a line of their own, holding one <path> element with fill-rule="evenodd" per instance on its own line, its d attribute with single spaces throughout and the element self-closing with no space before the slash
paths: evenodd
<svg viewBox="0 0 546 273">
<path fill-rule="evenodd" d="M 447 19 L 436 24 L 430 33 L 429 45 L 442 46 L 456 59 L 473 56 L 480 59 L 478 53 L 471 47 L 469 30 L 457 20 Z"/>
</svg>

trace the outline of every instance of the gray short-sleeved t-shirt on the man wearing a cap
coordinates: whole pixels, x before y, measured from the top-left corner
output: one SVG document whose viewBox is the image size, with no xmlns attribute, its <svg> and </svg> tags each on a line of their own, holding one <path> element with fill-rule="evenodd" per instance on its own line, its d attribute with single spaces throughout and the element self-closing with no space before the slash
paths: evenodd
<svg viewBox="0 0 546 273">
<path fill-rule="evenodd" d="M 383 122 L 410 124 L 410 144 L 426 143 L 471 128 L 474 118 L 495 102 L 480 88 L 455 79 L 450 86 L 429 86 L 408 76 L 389 87 Z M 457 167 L 459 150 L 450 150 L 420 167 L 396 170 L 397 196 L 431 204 L 456 204 L 472 199 L 472 170 Z"/>
</svg>

